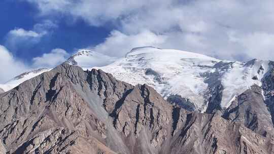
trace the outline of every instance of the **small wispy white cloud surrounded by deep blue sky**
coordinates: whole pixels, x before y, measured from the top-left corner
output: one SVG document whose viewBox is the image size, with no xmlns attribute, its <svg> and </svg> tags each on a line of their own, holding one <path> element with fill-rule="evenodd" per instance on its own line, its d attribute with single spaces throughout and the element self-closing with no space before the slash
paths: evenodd
<svg viewBox="0 0 274 154">
<path fill-rule="evenodd" d="M 57 25 L 50 20 L 35 24 L 32 29 L 15 28 L 10 30 L 6 36 L 5 46 L 13 52 L 22 47 L 31 47 L 41 41 L 41 38 L 56 28 Z"/>
</svg>

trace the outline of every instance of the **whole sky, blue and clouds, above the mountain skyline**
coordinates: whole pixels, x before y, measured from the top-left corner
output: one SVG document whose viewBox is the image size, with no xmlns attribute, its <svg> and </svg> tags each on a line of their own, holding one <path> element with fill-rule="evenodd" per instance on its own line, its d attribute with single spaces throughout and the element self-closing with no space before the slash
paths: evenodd
<svg viewBox="0 0 274 154">
<path fill-rule="evenodd" d="M 77 49 L 122 57 L 155 46 L 219 59 L 274 60 L 274 1 L 2 0 L 0 83 Z"/>
</svg>

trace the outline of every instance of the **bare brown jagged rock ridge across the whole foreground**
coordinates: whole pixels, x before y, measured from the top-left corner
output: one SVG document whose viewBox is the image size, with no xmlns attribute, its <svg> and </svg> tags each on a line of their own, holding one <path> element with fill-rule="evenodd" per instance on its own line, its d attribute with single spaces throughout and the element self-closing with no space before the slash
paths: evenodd
<svg viewBox="0 0 274 154">
<path fill-rule="evenodd" d="M 273 153 L 270 136 L 241 123 L 66 63 L 0 94 L 0 102 L 4 153 Z"/>
</svg>

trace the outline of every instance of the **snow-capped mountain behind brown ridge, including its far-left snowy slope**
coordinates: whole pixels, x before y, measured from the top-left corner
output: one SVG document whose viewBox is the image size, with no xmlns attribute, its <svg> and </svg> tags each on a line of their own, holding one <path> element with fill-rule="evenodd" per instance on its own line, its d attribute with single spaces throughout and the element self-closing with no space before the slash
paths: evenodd
<svg viewBox="0 0 274 154">
<path fill-rule="evenodd" d="M 147 84 L 165 99 L 189 110 L 212 112 L 225 109 L 239 95 L 256 84 L 273 68 L 270 61 L 232 62 L 213 57 L 154 47 L 133 48 L 122 58 L 109 57 L 81 49 L 66 61 L 86 69 L 102 69 L 116 79 Z M 21 74 L 0 85 L 8 91 L 20 83 L 49 69 Z"/>
</svg>

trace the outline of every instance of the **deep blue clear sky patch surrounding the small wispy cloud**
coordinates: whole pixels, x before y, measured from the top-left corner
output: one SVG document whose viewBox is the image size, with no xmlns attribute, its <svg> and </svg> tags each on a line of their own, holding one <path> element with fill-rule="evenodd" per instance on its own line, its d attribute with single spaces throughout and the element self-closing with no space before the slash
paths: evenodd
<svg viewBox="0 0 274 154">
<path fill-rule="evenodd" d="M 97 45 L 104 41 L 110 33 L 108 26 L 96 27 L 86 24 L 81 18 L 70 23 L 66 17 L 50 18 L 56 22 L 56 28 L 51 33 L 41 38 L 41 41 L 31 45 L 25 42 L 16 44 L 18 47 L 7 43 L 7 34 L 15 28 L 31 30 L 33 25 L 48 20 L 49 17 L 39 17 L 39 10 L 32 4 L 24 1 L 2 0 L 0 2 L 0 39 L 1 45 L 13 53 L 14 56 L 30 63 L 33 57 L 41 56 L 52 49 L 61 48 L 68 53 L 76 49 Z"/>
</svg>

